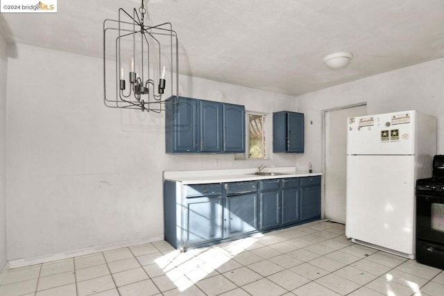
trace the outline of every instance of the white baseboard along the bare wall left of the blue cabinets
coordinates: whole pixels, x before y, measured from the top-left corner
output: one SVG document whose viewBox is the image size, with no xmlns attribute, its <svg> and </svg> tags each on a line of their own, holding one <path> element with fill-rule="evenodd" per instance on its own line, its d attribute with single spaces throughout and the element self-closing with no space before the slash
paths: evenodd
<svg viewBox="0 0 444 296">
<path fill-rule="evenodd" d="M 69 259 L 76 256 L 83 256 L 88 254 L 94 254 L 97 252 L 104 252 L 108 250 L 119 249 L 120 247 L 130 247 L 132 245 L 142 245 L 144 243 L 153 243 L 155 241 L 163 241 L 164 236 L 149 236 L 144 238 L 135 238 L 129 241 L 122 241 L 119 243 L 110 243 L 105 245 L 96 245 L 92 247 L 86 247 L 83 249 L 72 250 L 68 252 L 62 252 L 57 254 L 48 254 L 43 256 L 35 256 L 32 258 L 14 259 L 8 261 L 9 268 L 21 268 L 24 266 L 35 265 L 40 263 L 46 263 L 51 261 L 57 261 L 62 259 Z"/>
</svg>

